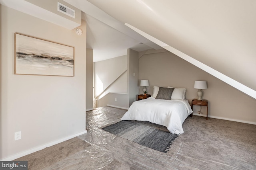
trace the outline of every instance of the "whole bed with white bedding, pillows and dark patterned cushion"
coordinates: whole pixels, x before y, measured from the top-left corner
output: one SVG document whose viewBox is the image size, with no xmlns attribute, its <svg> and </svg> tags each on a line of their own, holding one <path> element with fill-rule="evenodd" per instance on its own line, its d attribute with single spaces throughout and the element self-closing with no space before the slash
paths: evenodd
<svg viewBox="0 0 256 170">
<path fill-rule="evenodd" d="M 182 123 L 193 113 L 185 94 L 185 88 L 154 86 L 152 97 L 133 102 L 121 120 L 149 121 L 180 135 Z"/>
</svg>

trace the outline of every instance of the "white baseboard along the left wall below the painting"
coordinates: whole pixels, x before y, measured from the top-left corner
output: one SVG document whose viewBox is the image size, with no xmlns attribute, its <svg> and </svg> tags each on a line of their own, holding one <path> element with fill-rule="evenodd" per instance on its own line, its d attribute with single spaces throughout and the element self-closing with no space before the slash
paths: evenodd
<svg viewBox="0 0 256 170">
<path fill-rule="evenodd" d="M 42 149 L 45 149 L 45 148 L 47 148 L 47 147 L 51 147 L 51 146 L 53 146 L 53 145 L 56 145 L 56 144 L 58 144 L 58 143 L 62 143 L 62 142 L 64 142 L 64 141 L 67 141 L 68 139 L 72 139 L 72 138 L 74 138 L 74 137 L 83 135 L 84 133 L 87 133 L 87 131 L 85 130 L 85 131 L 83 131 L 83 132 L 76 133 L 75 135 L 71 135 L 71 136 L 69 136 L 69 137 L 65 137 L 65 138 L 59 139 L 59 140 L 57 140 L 57 141 L 54 141 L 54 142 L 51 142 L 51 143 L 48 143 L 48 144 L 45 144 L 45 145 L 41 145 L 41 146 L 39 146 L 39 147 L 30 149 L 30 150 L 26 150 L 26 151 L 24 151 L 24 152 L 20 152 L 20 153 L 18 153 L 18 154 L 15 154 L 15 155 L 13 155 L 13 156 L 8 157 L 8 158 L 4 158 L 4 159 L 2 159 L 1 161 L 12 161 L 12 160 L 14 160 L 14 159 L 20 158 L 20 157 L 25 156 L 25 155 L 27 155 L 27 154 L 34 153 L 34 152 L 36 152 L 36 151 L 38 151 L 38 150 L 42 150 Z"/>
</svg>

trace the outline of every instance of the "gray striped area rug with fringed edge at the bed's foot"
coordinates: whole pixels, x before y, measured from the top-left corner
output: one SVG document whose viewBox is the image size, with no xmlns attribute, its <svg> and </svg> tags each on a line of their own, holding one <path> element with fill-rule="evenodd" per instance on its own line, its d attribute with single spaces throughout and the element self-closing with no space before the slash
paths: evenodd
<svg viewBox="0 0 256 170">
<path fill-rule="evenodd" d="M 120 121 L 102 128 L 104 131 L 128 139 L 142 146 L 167 152 L 178 135 L 144 125 L 140 121 Z"/>
</svg>

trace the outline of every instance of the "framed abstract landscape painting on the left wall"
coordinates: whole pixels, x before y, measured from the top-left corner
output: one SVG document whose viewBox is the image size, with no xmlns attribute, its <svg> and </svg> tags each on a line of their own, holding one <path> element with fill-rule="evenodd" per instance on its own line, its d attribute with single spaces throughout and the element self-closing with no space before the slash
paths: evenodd
<svg viewBox="0 0 256 170">
<path fill-rule="evenodd" d="M 15 33 L 14 74 L 74 76 L 74 47 Z"/>
</svg>

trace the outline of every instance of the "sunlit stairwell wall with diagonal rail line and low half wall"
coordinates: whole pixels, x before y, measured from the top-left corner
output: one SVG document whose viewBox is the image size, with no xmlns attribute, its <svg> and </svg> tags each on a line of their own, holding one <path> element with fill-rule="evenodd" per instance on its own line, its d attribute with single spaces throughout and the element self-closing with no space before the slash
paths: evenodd
<svg viewBox="0 0 256 170">
<path fill-rule="evenodd" d="M 127 55 L 95 62 L 94 88 L 98 107 L 128 108 Z"/>
</svg>

